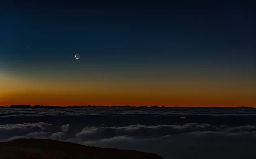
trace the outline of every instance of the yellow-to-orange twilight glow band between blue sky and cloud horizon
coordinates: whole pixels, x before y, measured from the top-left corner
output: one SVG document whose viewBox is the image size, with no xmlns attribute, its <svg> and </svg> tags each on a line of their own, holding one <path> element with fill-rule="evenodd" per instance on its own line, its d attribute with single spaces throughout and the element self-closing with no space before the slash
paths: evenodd
<svg viewBox="0 0 256 159">
<path fill-rule="evenodd" d="M 75 74 L 76 75 L 76 74 Z M 255 107 L 256 81 L 201 77 L 6 75 L 0 105 Z M 185 79 L 185 80 L 184 80 Z M 3 85 L 2 85 L 3 83 Z"/>
</svg>

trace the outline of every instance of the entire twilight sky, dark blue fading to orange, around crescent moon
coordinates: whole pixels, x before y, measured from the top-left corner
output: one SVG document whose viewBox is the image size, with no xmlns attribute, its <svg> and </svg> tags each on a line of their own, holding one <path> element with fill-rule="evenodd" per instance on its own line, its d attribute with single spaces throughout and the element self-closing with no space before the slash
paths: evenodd
<svg viewBox="0 0 256 159">
<path fill-rule="evenodd" d="M 253 4 L 1 4 L 0 105 L 256 106 Z"/>
</svg>

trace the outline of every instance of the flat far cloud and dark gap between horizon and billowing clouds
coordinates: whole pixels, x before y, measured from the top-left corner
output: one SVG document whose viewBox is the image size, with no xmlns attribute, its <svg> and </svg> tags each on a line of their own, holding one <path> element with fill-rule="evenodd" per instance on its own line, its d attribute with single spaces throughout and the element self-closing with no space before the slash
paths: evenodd
<svg viewBox="0 0 256 159">
<path fill-rule="evenodd" d="M 180 117 L 186 117 L 181 119 Z M 256 124 L 255 108 L 0 108 L 0 125 L 44 122 L 58 126 L 64 132 L 67 123 L 95 127 L 125 127 L 129 125 L 184 125 L 207 123 L 213 126 Z M 64 125 L 61 129 L 60 127 Z M 212 128 L 214 129 L 214 128 Z"/>
</svg>

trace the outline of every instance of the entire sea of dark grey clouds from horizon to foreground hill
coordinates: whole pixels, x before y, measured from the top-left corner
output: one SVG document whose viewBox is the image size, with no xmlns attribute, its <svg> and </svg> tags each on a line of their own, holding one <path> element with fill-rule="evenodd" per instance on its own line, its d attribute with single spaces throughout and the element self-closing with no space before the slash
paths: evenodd
<svg viewBox="0 0 256 159">
<path fill-rule="evenodd" d="M 166 159 L 255 158 L 256 109 L 0 108 L 0 141 L 18 138 L 140 150 Z"/>
</svg>

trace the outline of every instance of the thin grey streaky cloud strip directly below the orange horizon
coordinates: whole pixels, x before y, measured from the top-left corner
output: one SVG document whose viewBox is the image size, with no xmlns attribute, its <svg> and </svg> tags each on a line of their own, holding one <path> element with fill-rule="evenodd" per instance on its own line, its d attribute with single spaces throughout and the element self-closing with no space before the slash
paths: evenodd
<svg viewBox="0 0 256 159">
<path fill-rule="evenodd" d="M 256 108 L 154 108 L 154 107 L 84 107 L 84 108 L 0 108 L 0 118 L 12 116 L 256 116 Z"/>
</svg>

